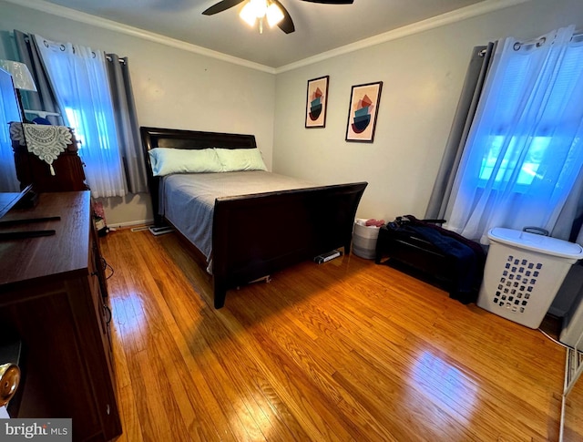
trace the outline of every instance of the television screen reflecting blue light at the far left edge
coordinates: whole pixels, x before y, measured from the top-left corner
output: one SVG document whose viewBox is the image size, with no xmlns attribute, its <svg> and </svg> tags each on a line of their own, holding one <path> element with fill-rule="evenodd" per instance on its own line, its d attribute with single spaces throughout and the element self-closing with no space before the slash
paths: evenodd
<svg viewBox="0 0 583 442">
<path fill-rule="evenodd" d="M 12 76 L 0 68 L 0 192 L 20 191 L 10 139 L 10 123 L 22 121 Z"/>
</svg>

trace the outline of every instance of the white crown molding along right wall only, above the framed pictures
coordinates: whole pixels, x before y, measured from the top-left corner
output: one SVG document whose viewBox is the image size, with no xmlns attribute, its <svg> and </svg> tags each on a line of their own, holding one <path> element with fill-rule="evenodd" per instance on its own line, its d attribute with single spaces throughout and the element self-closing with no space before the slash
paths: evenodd
<svg viewBox="0 0 583 442">
<path fill-rule="evenodd" d="M 364 38 L 363 40 L 351 43 L 350 45 L 340 46 L 330 51 L 322 52 L 317 56 L 304 58 L 295 63 L 285 65 L 282 67 L 277 67 L 275 69 L 275 74 L 281 74 L 298 67 L 306 67 L 314 63 L 327 60 L 332 57 L 342 56 L 344 54 L 349 54 L 354 51 L 358 51 L 370 46 L 380 45 L 381 43 L 386 43 L 398 38 L 403 38 L 404 36 L 413 36 L 420 32 L 428 31 L 430 29 L 435 29 L 435 27 L 450 25 L 455 22 L 463 21 L 467 18 L 472 18 L 477 15 L 484 15 L 498 9 L 504 9 L 506 7 L 520 5 L 522 3 L 527 3 L 531 0 L 486 0 L 484 2 L 478 3 L 476 5 L 465 6 L 455 11 L 445 13 L 442 15 L 436 15 L 432 18 L 427 18 L 420 22 L 414 23 L 413 25 L 399 27 L 392 31 L 379 34 L 377 36 L 372 36 L 369 38 Z"/>
</svg>

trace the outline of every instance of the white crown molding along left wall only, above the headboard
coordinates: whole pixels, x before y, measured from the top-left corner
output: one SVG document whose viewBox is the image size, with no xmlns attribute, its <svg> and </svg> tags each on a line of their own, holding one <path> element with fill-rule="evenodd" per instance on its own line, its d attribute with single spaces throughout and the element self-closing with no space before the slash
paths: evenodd
<svg viewBox="0 0 583 442">
<path fill-rule="evenodd" d="M 121 34 L 126 34 L 128 36 L 137 36 L 138 38 L 143 38 L 145 40 L 159 43 L 160 45 L 166 45 L 175 47 L 177 49 L 182 49 L 188 52 L 199 54 L 200 56 L 206 56 L 211 58 L 216 58 L 221 61 L 226 61 L 234 65 L 239 65 L 242 67 L 249 67 L 251 69 L 259 70 L 261 72 L 267 72 L 268 74 L 275 74 L 274 67 L 268 67 L 261 65 L 259 63 L 253 63 L 249 60 L 245 60 L 239 57 L 232 57 L 222 52 L 213 51 L 207 49 L 206 47 L 192 45 L 176 38 L 170 38 L 169 36 L 161 36 L 159 34 L 146 31 L 134 26 L 123 25 L 121 23 L 115 22 L 113 20 L 108 20 L 107 18 L 101 18 L 97 15 L 90 15 L 83 12 L 76 11 L 61 5 L 55 5 L 52 3 L 45 2 L 43 0 L 2 0 L 6 3 L 12 3 L 14 5 L 24 6 L 30 9 L 35 9 L 36 11 L 41 11 L 46 14 L 57 15 L 59 17 L 68 18 L 76 22 L 85 23 L 91 26 L 97 26 L 110 31 L 116 31 Z"/>
</svg>

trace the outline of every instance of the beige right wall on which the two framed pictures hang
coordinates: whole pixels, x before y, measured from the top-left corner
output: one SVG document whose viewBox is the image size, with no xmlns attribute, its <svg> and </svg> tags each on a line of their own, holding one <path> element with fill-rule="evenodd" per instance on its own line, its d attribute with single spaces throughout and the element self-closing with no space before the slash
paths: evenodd
<svg viewBox="0 0 583 442">
<path fill-rule="evenodd" d="M 369 182 L 363 218 L 423 217 L 473 46 L 575 24 L 581 0 L 532 0 L 281 73 L 273 170 L 322 183 Z M 330 76 L 325 128 L 304 128 L 307 80 Z M 383 81 L 373 144 L 344 141 L 351 87 Z"/>
</svg>

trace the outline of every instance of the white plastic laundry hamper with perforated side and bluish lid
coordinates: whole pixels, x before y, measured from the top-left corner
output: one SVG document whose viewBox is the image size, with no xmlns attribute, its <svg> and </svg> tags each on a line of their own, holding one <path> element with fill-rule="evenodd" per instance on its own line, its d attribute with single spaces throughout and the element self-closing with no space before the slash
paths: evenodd
<svg viewBox="0 0 583 442">
<path fill-rule="evenodd" d="M 538 328 L 572 264 L 583 258 L 573 242 L 496 227 L 477 305 L 515 323 Z"/>
</svg>

